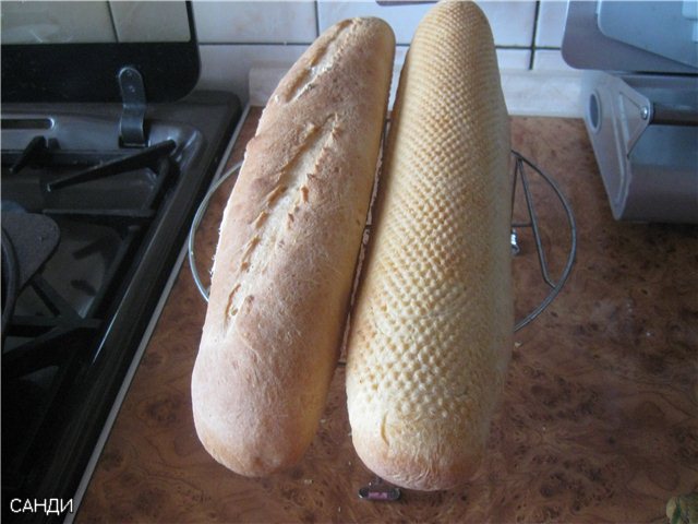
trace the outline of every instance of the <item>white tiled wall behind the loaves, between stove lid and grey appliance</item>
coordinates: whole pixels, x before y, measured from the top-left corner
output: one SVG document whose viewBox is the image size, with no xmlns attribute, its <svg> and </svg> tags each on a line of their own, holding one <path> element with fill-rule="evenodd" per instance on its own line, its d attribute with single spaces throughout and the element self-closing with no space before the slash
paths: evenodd
<svg viewBox="0 0 698 524">
<path fill-rule="evenodd" d="M 571 68 L 559 53 L 567 0 L 478 0 L 478 4 L 492 26 L 509 111 L 576 115 L 571 100 L 578 92 L 578 75 L 570 73 Z M 196 0 L 194 13 L 203 60 L 201 85 L 233 90 L 243 99 L 251 96 L 253 103 L 263 104 L 318 32 L 347 17 L 380 16 L 390 24 L 397 40 L 393 99 L 414 29 L 432 7 L 380 5 L 369 0 L 231 3 Z M 284 59 L 288 63 L 281 63 Z M 562 80 L 556 80 L 557 76 Z M 253 93 L 245 84 L 246 79 Z M 553 104 L 547 98 L 552 95 L 563 102 Z"/>
</svg>

